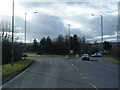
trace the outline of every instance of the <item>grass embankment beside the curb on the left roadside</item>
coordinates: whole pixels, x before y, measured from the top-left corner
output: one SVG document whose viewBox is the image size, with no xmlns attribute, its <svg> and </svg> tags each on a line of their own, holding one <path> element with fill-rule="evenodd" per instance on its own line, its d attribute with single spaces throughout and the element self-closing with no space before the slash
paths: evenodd
<svg viewBox="0 0 120 90">
<path fill-rule="evenodd" d="M 28 67 L 32 62 L 33 62 L 32 59 L 26 59 L 26 60 L 15 61 L 14 66 L 11 66 L 11 64 L 2 65 L 1 75 L 3 82 L 4 80 L 10 78 L 11 76 L 17 74 L 18 72 Z"/>
</svg>

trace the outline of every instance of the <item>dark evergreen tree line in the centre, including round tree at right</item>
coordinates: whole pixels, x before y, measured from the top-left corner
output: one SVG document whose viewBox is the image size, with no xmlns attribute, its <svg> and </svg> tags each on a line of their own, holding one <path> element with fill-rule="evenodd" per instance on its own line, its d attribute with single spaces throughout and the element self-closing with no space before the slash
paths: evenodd
<svg viewBox="0 0 120 90">
<path fill-rule="evenodd" d="M 78 37 L 77 34 L 73 36 L 59 35 L 56 39 L 52 40 L 50 36 L 43 37 L 40 41 L 33 40 L 32 50 L 38 54 L 68 54 L 69 53 L 69 40 L 70 50 L 73 54 L 93 54 L 99 52 L 101 45 L 95 41 L 93 44 L 86 41 L 85 37 Z M 110 50 L 112 45 L 110 42 L 103 43 L 104 50 Z"/>
</svg>

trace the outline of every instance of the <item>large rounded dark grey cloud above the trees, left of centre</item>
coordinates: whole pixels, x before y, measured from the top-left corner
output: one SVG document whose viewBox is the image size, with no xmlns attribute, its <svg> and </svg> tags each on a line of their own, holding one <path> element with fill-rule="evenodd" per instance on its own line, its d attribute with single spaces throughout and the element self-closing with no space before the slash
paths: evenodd
<svg viewBox="0 0 120 90">
<path fill-rule="evenodd" d="M 28 34 L 37 34 L 38 37 L 55 37 L 65 32 L 61 18 L 56 16 L 38 14 L 34 16 L 32 21 L 27 23 Z"/>
</svg>

